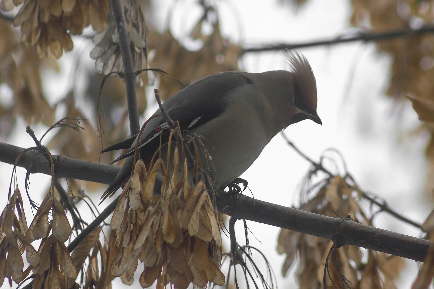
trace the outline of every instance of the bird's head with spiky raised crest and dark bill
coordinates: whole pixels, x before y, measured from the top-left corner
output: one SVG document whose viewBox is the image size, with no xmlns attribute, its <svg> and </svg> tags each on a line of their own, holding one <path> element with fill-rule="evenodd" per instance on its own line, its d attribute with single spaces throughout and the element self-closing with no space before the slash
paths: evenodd
<svg viewBox="0 0 434 289">
<path fill-rule="evenodd" d="M 287 61 L 291 78 L 290 83 L 293 87 L 291 97 L 294 105 L 289 124 L 307 119 L 322 124 L 316 113 L 316 80 L 309 62 L 301 53 L 292 51 L 287 52 Z"/>
</svg>

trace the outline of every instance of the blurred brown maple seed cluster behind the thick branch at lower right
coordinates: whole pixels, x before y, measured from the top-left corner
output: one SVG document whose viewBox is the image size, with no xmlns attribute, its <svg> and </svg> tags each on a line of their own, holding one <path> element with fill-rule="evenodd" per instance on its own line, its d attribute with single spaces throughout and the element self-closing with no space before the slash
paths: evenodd
<svg viewBox="0 0 434 289">
<path fill-rule="evenodd" d="M 358 194 L 353 195 L 353 191 Z M 372 220 L 366 218 L 356 201 L 361 194 L 357 187 L 353 188 L 345 178 L 336 175 L 327 179 L 316 196 L 299 209 L 329 217 L 336 217 L 335 212 L 343 216 L 350 214 L 354 221 L 372 226 Z M 351 283 L 351 288 L 395 288 L 392 280 L 404 264 L 401 257 L 388 258 L 385 253 L 369 250 L 368 260 L 363 263 L 362 251 L 358 247 L 342 246 L 335 248 L 335 255 L 331 254 L 330 259 L 327 260 L 332 246 L 332 240 L 282 229 L 277 245 L 279 254 L 286 253 L 282 275 L 286 276 L 298 255 L 300 261 L 296 277 L 300 288 L 334 288 L 332 282 L 341 283 L 342 275 Z M 326 278 L 324 286 L 322 282 L 325 270 L 328 271 L 331 279 Z"/>
</svg>

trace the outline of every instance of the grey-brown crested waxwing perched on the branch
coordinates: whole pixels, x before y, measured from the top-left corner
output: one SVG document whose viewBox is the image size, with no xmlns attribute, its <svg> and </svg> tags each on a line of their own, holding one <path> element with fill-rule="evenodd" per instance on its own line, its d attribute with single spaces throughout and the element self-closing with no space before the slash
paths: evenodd
<svg viewBox="0 0 434 289">
<path fill-rule="evenodd" d="M 316 112 L 316 79 L 304 55 L 288 52 L 289 70 L 249 73 L 225 71 L 209 75 L 176 92 L 162 104 L 187 135 L 200 135 L 209 153 L 210 176 L 225 188 L 246 171 L 277 133 L 301 120 L 322 124 Z M 154 115 L 160 114 L 158 109 Z M 130 149 L 118 175 L 103 194 L 113 195 L 131 176 L 134 149 L 139 141 L 146 165 L 168 141 L 168 123 L 154 117 L 138 135 L 102 152 Z M 166 131 L 165 134 L 162 134 Z M 103 198 L 102 197 L 102 198 Z"/>
</svg>

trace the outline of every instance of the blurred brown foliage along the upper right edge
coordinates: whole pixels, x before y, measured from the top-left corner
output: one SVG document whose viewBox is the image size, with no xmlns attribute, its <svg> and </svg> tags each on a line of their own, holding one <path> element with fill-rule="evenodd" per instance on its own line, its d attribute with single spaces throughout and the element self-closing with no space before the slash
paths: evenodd
<svg viewBox="0 0 434 289">
<path fill-rule="evenodd" d="M 362 29 L 387 31 L 399 28 L 418 29 L 433 23 L 434 3 L 420 0 L 352 0 L 351 24 Z M 427 192 L 434 186 L 434 116 L 427 111 L 434 101 L 434 35 L 400 37 L 378 41 L 378 52 L 392 56 L 391 80 L 387 94 L 397 100 L 408 97 L 419 115 L 429 123 L 425 127 L 431 133 L 426 148 L 430 164 L 427 176 Z"/>
</svg>

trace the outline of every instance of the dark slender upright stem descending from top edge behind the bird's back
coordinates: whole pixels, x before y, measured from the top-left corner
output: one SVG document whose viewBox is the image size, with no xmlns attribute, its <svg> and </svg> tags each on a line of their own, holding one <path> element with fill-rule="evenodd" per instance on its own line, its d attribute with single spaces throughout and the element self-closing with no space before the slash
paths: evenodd
<svg viewBox="0 0 434 289">
<path fill-rule="evenodd" d="M 125 19 L 122 13 L 122 5 L 120 0 L 110 0 L 112 5 L 113 17 L 115 18 L 116 31 L 119 36 L 119 47 L 121 49 L 122 62 L 124 65 L 124 75 L 122 78 L 125 81 L 127 91 L 127 107 L 128 117 L 130 120 L 131 135 L 135 135 L 140 131 L 140 123 L 138 120 L 137 97 L 135 91 L 135 72 L 132 62 L 130 50 L 130 38 L 125 26 Z"/>
</svg>

